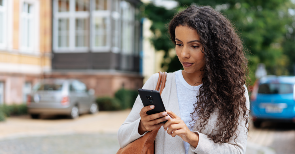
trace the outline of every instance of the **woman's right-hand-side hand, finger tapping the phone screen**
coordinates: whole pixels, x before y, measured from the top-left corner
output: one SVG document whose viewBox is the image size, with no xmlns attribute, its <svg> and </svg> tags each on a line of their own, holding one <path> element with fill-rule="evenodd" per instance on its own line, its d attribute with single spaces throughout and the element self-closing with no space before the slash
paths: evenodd
<svg viewBox="0 0 295 154">
<path fill-rule="evenodd" d="M 178 117 L 175 113 L 169 110 L 166 110 L 166 112 L 172 119 L 169 119 L 164 124 L 164 130 L 167 130 L 168 128 L 167 133 L 169 135 L 172 137 L 178 135 L 183 141 L 188 142 L 190 145 L 196 148 L 199 143 L 199 135 L 189 130 L 183 120 L 181 120 L 180 117 Z"/>
</svg>

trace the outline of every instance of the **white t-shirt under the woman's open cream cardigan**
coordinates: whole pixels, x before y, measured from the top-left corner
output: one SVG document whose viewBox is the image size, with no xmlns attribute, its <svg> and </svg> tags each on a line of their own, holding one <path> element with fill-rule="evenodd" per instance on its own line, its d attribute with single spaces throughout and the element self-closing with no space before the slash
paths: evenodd
<svg viewBox="0 0 295 154">
<path fill-rule="evenodd" d="M 184 80 L 181 70 L 175 72 L 175 80 L 180 116 L 186 126 L 189 127 L 189 129 L 192 131 L 194 122 L 192 121 L 190 114 L 194 112 L 194 104 L 198 101 L 196 96 L 199 94 L 199 89 L 202 84 L 200 84 L 199 86 L 189 85 L 189 83 Z M 189 143 L 184 141 L 183 143 L 185 153 L 187 154 L 189 151 Z"/>
</svg>

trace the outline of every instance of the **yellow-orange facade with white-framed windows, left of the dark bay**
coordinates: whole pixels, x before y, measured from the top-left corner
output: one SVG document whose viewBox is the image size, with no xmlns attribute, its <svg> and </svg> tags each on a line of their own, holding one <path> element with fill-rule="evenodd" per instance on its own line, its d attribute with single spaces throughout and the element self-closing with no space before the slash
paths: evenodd
<svg viewBox="0 0 295 154">
<path fill-rule="evenodd" d="M 51 0 L 0 0 L 0 104 L 26 102 L 51 71 Z"/>
</svg>

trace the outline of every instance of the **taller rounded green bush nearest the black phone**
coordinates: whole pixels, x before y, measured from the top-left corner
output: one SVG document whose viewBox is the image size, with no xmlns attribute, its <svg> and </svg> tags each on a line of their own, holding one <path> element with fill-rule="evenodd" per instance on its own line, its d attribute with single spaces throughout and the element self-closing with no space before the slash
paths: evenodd
<svg viewBox="0 0 295 154">
<path fill-rule="evenodd" d="M 121 109 L 132 108 L 138 95 L 137 90 L 120 89 L 115 93 L 115 98 L 121 102 Z"/>
</svg>

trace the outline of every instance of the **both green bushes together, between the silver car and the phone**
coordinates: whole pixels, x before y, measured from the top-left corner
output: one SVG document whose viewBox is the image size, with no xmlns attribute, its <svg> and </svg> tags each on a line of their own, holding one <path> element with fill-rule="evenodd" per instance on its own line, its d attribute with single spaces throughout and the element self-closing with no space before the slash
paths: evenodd
<svg viewBox="0 0 295 154">
<path fill-rule="evenodd" d="M 136 90 L 120 89 L 115 93 L 115 97 L 100 97 L 96 102 L 101 111 L 113 111 L 132 108 L 138 92 Z"/>
</svg>

